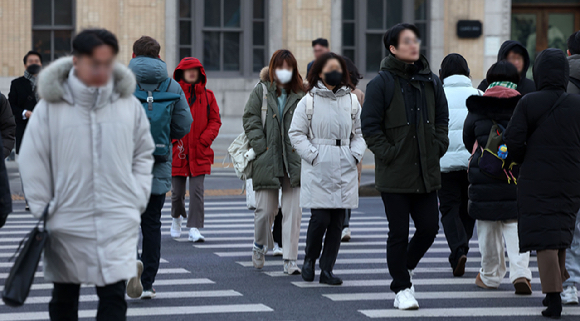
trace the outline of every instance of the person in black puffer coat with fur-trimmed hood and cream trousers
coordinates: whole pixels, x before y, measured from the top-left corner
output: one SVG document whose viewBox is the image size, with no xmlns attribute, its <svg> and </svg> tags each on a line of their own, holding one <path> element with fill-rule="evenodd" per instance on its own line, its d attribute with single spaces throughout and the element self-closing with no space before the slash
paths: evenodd
<svg viewBox="0 0 580 321">
<path fill-rule="evenodd" d="M 465 147 L 474 150 L 469 165 L 469 215 L 477 220 L 481 253 L 481 269 L 475 284 L 484 289 L 499 287 L 507 272 L 505 239 L 510 281 L 516 294 L 531 294 L 530 253 L 520 253 L 518 240 L 517 185 L 491 177 L 480 167 L 494 122 L 499 128 L 505 128 L 521 98 L 516 91 L 520 76 L 514 65 L 502 60 L 489 68 L 486 79 L 489 87 L 483 96 L 467 99 L 469 113 L 463 128 Z"/>
</svg>

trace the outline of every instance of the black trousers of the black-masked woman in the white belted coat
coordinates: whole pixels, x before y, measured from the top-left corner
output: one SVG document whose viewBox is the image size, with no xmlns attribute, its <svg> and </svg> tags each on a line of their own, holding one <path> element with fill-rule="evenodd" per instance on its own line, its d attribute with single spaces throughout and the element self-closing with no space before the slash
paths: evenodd
<svg viewBox="0 0 580 321">
<path fill-rule="evenodd" d="M 320 257 L 320 269 L 332 271 L 342 236 L 342 224 L 344 222 L 344 208 L 313 208 L 306 232 L 306 257 L 316 261 Z M 324 239 L 324 251 L 322 251 L 322 238 Z M 320 252 L 322 251 L 322 256 Z"/>
</svg>

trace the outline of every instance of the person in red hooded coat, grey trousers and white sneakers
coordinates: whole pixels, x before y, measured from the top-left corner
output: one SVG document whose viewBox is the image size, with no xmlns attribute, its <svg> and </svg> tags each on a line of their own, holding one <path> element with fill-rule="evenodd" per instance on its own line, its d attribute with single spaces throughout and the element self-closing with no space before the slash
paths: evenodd
<svg viewBox="0 0 580 321">
<path fill-rule="evenodd" d="M 206 89 L 207 77 L 201 62 L 192 57 L 183 58 L 173 78 L 181 85 L 191 109 L 193 123 L 185 137 L 173 142 L 171 237 L 181 235 L 182 218 L 187 219 L 189 240 L 203 242 L 199 232 L 204 221 L 205 175 L 211 173 L 213 150 L 211 144 L 217 137 L 222 122 L 213 91 Z M 189 177 L 189 213 L 185 211 L 185 184 Z"/>
</svg>

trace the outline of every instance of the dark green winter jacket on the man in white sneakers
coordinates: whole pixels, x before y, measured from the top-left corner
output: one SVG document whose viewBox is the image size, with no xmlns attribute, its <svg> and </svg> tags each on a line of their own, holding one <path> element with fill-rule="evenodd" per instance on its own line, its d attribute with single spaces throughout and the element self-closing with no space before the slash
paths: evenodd
<svg viewBox="0 0 580 321">
<path fill-rule="evenodd" d="M 449 110 L 441 81 L 423 56 L 406 64 L 389 55 L 381 70 L 392 76 L 385 80 L 379 74 L 371 80 L 361 114 L 364 138 L 375 154 L 376 188 L 385 193 L 438 190 L 439 160 L 449 146 Z"/>
</svg>

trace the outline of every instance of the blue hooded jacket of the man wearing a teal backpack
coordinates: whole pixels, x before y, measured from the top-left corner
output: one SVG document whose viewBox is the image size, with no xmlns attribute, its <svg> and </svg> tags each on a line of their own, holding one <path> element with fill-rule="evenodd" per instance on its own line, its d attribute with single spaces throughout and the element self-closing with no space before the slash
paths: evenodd
<svg viewBox="0 0 580 321">
<path fill-rule="evenodd" d="M 147 90 L 154 90 L 160 82 L 169 78 L 167 74 L 167 65 L 161 59 L 139 56 L 131 59 L 129 69 L 133 71 L 137 78 L 137 83 Z M 173 79 L 167 89 L 167 92 L 181 95 L 181 99 L 173 108 L 171 118 L 171 139 L 181 139 L 189 133 L 193 118 L 189 111 L 189 105 L 181 86 Z M 153 166 L 153 186 L 151 194 L 165 194 L 171 190 L 171 160 L 168 158 L 166 163 L 156 163 Z"/>
</svg>

